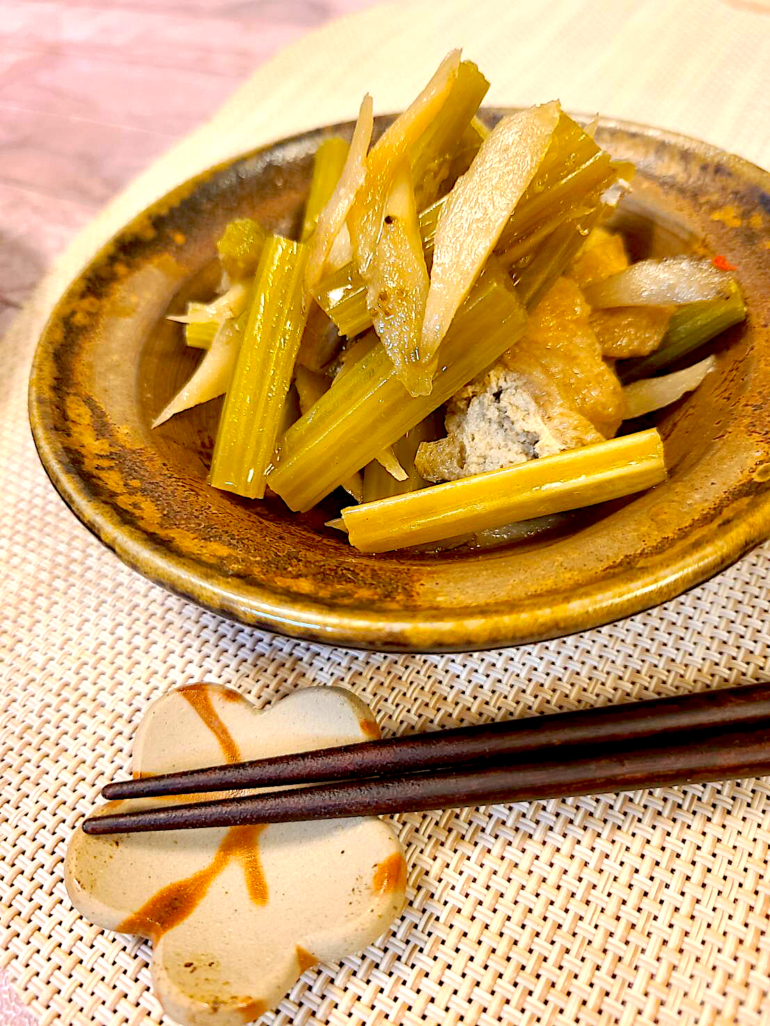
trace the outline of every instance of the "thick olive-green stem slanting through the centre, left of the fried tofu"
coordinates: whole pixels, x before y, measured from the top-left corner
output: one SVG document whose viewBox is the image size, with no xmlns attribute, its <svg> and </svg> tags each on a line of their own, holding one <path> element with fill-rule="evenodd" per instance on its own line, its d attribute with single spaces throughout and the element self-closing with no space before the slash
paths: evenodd
<svg viewBox="0 0 770 1026">
<path fill-rule="evenodd" d="M 411 396 L 374 346 L 286 432 L 270 487 L 291 509 L 310 509 L 498 359 L 525 324 L 507 275 L 491 262 L 439 347 L 430 395 Z"/>
</svg>

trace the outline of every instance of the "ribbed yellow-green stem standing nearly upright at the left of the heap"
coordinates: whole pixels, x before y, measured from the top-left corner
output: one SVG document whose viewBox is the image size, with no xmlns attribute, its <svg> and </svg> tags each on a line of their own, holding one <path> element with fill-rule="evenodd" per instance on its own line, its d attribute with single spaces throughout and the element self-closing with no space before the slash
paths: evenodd
<svg viewBox="0 0 770 1026">
<path fill-rule="evenodd" d="M 209 474 L 217 488 L 248 499 L 265 494 L 265 472 L 305 326 L 307 246 L 281 236 L 265 243 L 243 340 L 222 410 Z"/>
</svg>

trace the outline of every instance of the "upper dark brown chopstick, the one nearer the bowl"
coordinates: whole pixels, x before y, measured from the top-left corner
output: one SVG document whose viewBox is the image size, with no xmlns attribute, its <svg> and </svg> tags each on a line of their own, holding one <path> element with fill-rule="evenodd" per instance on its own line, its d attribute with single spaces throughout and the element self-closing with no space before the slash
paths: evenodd
<svg viewBox="0 0 770 1026">
<path fill-rule="evenodd" d="M 634 746 L 644 738 L 709 728 L 732 731 L 763 721 L 770 721 L 770 682 L 117 781 L 102 794 L 105 798 L 151 798 L 419 773 L 521 758 L 536 751 L 552 754 L 564 747 Z"/>
</svg>

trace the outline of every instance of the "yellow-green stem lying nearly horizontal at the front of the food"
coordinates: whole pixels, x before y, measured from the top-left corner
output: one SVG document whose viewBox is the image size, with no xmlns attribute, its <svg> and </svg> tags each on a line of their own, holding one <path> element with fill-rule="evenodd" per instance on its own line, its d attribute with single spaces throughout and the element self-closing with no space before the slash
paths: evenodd
<svg viewBox="0 0 770 1026">
<path fill-rule="evenodd" d="M 348 506 L 350 544 L 387 552 L 619 499 L 665 478 L 657 431 L 642 431 L 420 491 Z"/>
</svg>

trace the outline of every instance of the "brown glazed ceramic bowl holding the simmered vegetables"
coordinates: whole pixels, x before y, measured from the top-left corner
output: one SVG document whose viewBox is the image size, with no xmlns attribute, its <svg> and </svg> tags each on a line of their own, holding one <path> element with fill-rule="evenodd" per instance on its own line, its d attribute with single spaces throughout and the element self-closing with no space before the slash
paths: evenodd
<svg viewBox="0 0 770 1026">
<path fill-rule="evenodd" d="M 495 119 L 501 112 L 488 112 Z M 380 119 L 380 127 L 387 119 Z M 251 214 L 298 226 L 319 129 L 216 167 L 120 232 L 40 340 L 30 418 L 77 517 L 141 574 L 243 624 L 355 647 L 462 652 L 584 630 L 671 598 L 770 535 L 770 175 L 738 157 L 602 120 L 639 173 L 619 224 L 634 256 L 697 248 L 737 266 L 748 321 L 718 372 L 658 420 L 668 480 L 498 550 L 362 555 L 324 528 L 206 484 L 220 400 L 157 431 L 198 356 L 164 320 L 214 282 L 215 242 Z"/>
</svg>

